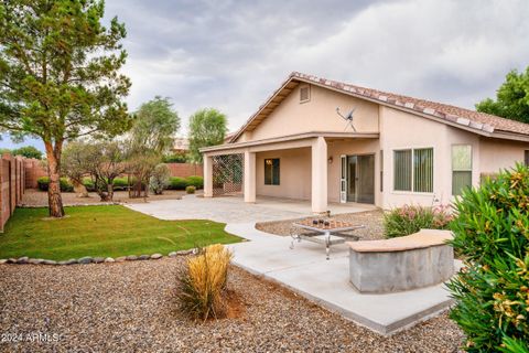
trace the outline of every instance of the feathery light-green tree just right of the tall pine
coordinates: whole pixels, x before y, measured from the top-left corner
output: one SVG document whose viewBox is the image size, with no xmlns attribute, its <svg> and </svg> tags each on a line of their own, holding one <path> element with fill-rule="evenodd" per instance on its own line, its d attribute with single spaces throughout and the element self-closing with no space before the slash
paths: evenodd
<svg viewBox="0 0 529 353">
<path fill-rule="evenodd" d="M 173 147 L 180 129 L 180 117 L 169 98 L 159 96 L 144 103 L 136 113 L 136 121 L 128 139 L 128 171 L 133 175 L 131 197 L 147 196 L 154 168 Z"/>
</svg>

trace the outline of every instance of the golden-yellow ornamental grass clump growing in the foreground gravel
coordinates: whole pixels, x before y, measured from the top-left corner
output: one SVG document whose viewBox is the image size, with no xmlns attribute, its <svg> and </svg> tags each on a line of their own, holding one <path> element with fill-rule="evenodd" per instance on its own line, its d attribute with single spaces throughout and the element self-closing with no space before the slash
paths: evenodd
<svg viewBox="0 0 529 353">
<path fill-rule="evenodd" d="M 220 244 L 202 249 L 187 260 L 180 277 L 182 310 L 193 319 L 220 318 L 226 310 L 228 266 L 233 254 Z"/>
</svg>

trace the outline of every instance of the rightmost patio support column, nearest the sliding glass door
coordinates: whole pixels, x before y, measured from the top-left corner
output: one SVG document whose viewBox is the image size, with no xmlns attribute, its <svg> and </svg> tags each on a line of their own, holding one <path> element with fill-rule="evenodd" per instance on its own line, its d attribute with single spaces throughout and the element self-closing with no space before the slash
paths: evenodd
<svg viewBox="0 0 529 353">
<path fill-rule="evenodd" d="M 319 137 L 312 143 L 312 212 L 327 211 L 327 142 Z"/>
</svg>

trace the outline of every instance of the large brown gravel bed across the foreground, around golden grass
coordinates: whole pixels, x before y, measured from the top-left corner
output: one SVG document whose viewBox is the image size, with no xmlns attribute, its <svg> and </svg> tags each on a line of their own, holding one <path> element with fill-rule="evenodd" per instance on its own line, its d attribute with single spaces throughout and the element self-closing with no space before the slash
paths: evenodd
<svg viewBox="0 0 529 353">
<path fill-rule="evenodd" d="M 228 285 L 242 313 L 195 323 L 174 299 L 183 265 L 184 258 L 0 265 L 1 339 L 21 334 L 23 341 L 0 342 L 0 351 L 457 352 L 462 344 L 462 332 L 446 314 L 384 338 L 235 267 Z M 26 335 L 39 332 L 41 342 Z M 42 342 L 45 335 L 58 341 Z"/>
</svg>

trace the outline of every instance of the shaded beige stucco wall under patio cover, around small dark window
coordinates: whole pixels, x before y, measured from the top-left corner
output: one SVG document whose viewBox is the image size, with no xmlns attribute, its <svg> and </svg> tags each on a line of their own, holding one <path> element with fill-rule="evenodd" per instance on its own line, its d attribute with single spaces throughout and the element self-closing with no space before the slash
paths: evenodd
<svg viewBox="0 0 529 353">
<path fill-rule="evenodd" d="M 264 159 L 279 158 L 279 185 L 264 185 Z M 258 152 L 256 192 L 258 196 L 311 200 L 311 149 L 296 148 Z"/>
</svg>

